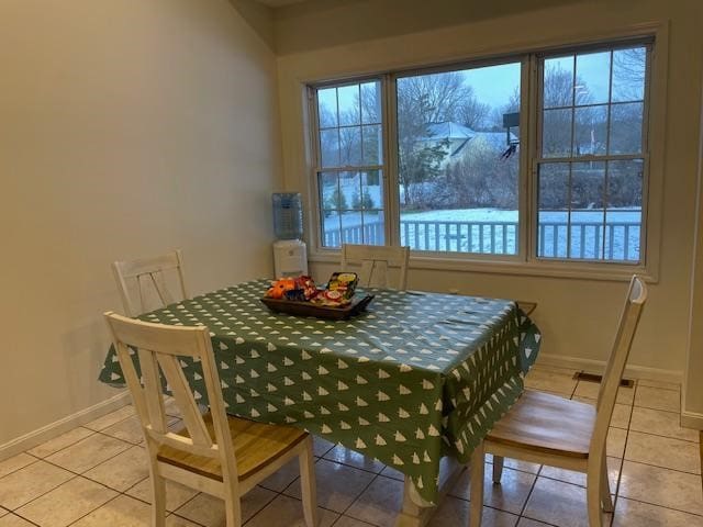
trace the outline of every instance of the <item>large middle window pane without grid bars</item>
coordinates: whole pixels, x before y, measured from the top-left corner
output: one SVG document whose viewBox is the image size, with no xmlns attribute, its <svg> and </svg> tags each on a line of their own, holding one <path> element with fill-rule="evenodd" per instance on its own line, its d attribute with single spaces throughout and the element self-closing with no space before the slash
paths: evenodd
<svg viewBox="0 0 703 527">
<path fill-rule="evenodd" d="M 516 255 L 520 61 L 399 77 L 400 243 Z"/>
</svg>

